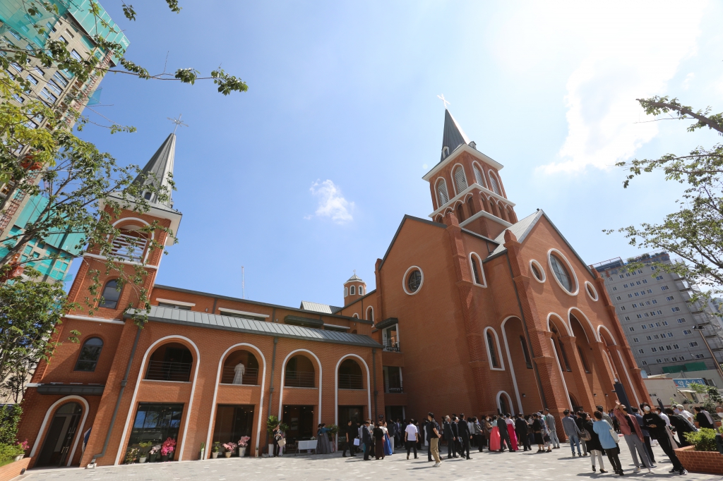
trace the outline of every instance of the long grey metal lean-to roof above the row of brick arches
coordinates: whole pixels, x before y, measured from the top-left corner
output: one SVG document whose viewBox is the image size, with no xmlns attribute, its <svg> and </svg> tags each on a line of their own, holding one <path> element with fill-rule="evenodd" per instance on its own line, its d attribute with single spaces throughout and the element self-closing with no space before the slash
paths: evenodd
<svg viewBox="0 0 723 481">
<path fill-rule="evenodd" d="M 127 311 L 124 317 L 132 316 Z M 325 331 L 309 327 L 291 326 L 275 322 L 253 321 L 240 317 L 221 316 L 205 312 L 184 311 L 182 309 L 150 306 L 148 314 L 150 321 L 183 324 L 185 326 L 206 327 L 209 329 L 222 329 L 224 331 L 245 332 L 261 336 L 288 337 L 291 339 L 304 339 L 307 341 L 331 342 L 333 344 L 346 344 L 364 347 L 382 347 L 369 336 L 349 334 L 347 332 Z"/>
</svg>

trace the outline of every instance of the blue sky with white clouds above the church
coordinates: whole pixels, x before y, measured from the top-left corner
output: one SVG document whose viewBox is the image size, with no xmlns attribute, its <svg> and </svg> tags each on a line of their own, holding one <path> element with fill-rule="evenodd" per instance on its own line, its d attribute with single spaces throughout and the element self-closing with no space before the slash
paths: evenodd
<svg viewBox="0 0 723 481">
<path fill-rule="evenodd" d="M 240 296 L 244 266 L 247 298 L 288 306 L 341 304 L 353 269 L 373 288 L 403 215 L 432 212 L 422 175 L 440 156 L 442 93 L 505 165 L 518 217 L 544 209 L 589 263 L 638 254 L 602 229 L 660 220 L 682 190 L 657 174 L 625 190 L 616 161 L 719 142 L 638 123 L 635 101 L 723 110 L 719 3 L 181 0 L 174 14 L 156 0 L 135 5 L 137 22 L 102 4 L 152 73 L 168 55 L 168 71 L 221 64 L 249 84 L 223 97 L 205 82 L 103 79 L 109 106 L 95 110 L 138 131 L 82 136 L 121 164 L 147 161 L 167 117 L 189 124 L 160 284 Z"/>
</svg>

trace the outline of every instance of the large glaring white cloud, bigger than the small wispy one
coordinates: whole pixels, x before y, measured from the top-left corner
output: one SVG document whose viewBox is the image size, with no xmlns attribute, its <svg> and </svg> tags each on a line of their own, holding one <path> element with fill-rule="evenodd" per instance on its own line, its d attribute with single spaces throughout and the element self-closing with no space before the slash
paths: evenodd
<svg viewBox="0 0 723 481">
<path fill-rule="evenodd" d="M 658 132 L 654 122 L 637 123 L 645 115 L 636 98 L 668 93 L 667 82 L 680 62 L 696 52 L 705 3 L 615 0 L 530 6 L 518 9 L 505 25 L 510 26 L 506 35 L 517 40 L 498 55 L 521 65 L 521 71 L 572 71 L 565 95 L 568 136 L 557 160 L 541 169 L 608 168 L 633 156 Z M 651 15 L 675 18 L 686 26 L 685 35 L 668 35 Z M 524 51 L 523 45 L 531 46 Z"/>
</svg>

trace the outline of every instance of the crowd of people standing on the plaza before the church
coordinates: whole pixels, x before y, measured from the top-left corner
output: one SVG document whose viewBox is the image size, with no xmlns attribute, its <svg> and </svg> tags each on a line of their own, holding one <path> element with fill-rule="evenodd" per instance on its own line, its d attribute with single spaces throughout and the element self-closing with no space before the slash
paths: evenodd
<svg viewBox="0 0 723 481">
<path fill-rule="evenodd" d="M 561 420 L 565 436 L 570 443 L 572 456 L 589 456 L 591 469 L 607 473 L 603 455 L 607 456 L 611 470 L 617 475 L 625 475 L 620 464 L 620 438 L 625 440 L 635 469 L 641 472 L 645 467 L 648 472 L 655 467 L 655 456 L 651 440 L 655 440 L 672 463 L 671 474 L 684 475 L 685 468 L 675 455 L 679 446 L 689 446 L 685 433 L 701 428 L 715 428 L 713 417 L 702 407 L 696 407 L 696 415 L 688 412 L 680 404 L 662 409 L 643 403 L 640 407 L 627 407 L 615 402 L 612 410 L 605 411 L 597 406 L 592 414 L 589 412 L 570 412 L 565 410 Z M 720 409 L 723 411 L 723 408 Z M 677 435 L 677 439 L 675 436 Z M 482 417 L 466 417 L 445 415 L 437 421 L 434 413 L 429 412 L 422 420 L 409 419 L 388 420 L 372 423 L 364 421 L 356 425 L 348 421 L 341 428 L 339 441 L 345 446 L 342 456 L 364 456 L 364 460 L 384 459 L 395 453 L 395 449 L 406 449 L 407 459 L 414 453 L 418 459 L 418 451 L 426 448 L 427 461 L 434 461 L 434 467 L 442 464 L 442 443 L 446 445 L 448 459 L 471 459 L 471 451 L 479 453 L 484 450 L 498 452 L 531 451 L 536 446 L 537 453 L 550 453 L 560 449 L 560 438 L 557 436 L 555 416 L 544 409 L 531 415 L 486 415 Z"/>
</svg>

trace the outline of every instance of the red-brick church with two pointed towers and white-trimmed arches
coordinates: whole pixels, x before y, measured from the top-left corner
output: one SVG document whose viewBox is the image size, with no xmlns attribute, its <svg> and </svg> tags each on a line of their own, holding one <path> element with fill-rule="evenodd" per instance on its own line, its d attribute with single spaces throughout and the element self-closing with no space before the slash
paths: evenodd
<svg viewBox="0 0 723 481">
<path fill-rule="evenodd" d="M 169 135 L 145 168 L 162 182 L 175 144 Z M 424 175 L 429 220 L 403 217 L 377 259 L 376 289 L 355 274 L 343 307 L 156 285 L 161 252 L 127 236 L 147 242 L 138 230 L 154 221 L 175 232 L 181 212 L 156 199 L 146 215 L 123 212 L 114 246 L 129 273 L 147 266 L 149 321 L 138 329 L 129 319 L 136 290 L 116 290 L 117 273 L 102 278 L 93 316 L 65 316 L 57 338 L 82 338 L 28 385 L 19 438 L 32 446 L 30 466 L 119 464 L 129 447 L 169 437 L 174 460 L 199 459 L 202 443 L 210 457 L 215 441 L 241 436 L 260 456 L 268 415 L 289 425 L 293 446 L 318 423 L 350 418 L 542 407 L 559 417 L 648 400 L 604 280 L 542 210 L 518 220 L 500 170 L 445 110 L 441 158 Z M 105 272 L 98 253 L 85 254 L 71 300 L 89 295 L 91 269 Z"/>
</svg>

